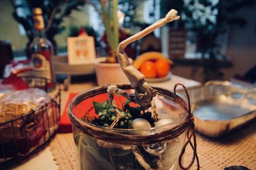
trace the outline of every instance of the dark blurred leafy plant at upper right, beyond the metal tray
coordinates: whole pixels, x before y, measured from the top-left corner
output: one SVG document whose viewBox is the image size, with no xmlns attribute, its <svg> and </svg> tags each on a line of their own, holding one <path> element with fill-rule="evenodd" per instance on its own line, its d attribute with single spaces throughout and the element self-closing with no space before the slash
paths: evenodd
<svg viewBox="0 0 256 170">
<path fill-rule="evenodd" d="M 218 38 L 231 26 L 243 27 L 246 20 L 243 16 L 236 17 L 234 13 L 253 3 L 255 3 L 253 0 L 184 0 L 184 12 L 181 18 L 184 19 L 188 29 L 198 32 L 196 50 L 202 53 L 203 59 L 207 59 L 204 81 L 223 79 L 223 73 L 216 64 L 218 59 L 225 59 L 220 55 L 221 43 L 218 42 Z"/>
</svg>

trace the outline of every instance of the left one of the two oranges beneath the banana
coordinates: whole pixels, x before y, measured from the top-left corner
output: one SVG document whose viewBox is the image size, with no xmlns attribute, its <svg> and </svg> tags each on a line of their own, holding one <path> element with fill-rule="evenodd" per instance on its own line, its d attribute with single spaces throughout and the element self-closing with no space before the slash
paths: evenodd
<svg viewBox="0 0 256 170">
<path fill-rule="evenodd" d="M 156 78 L 156 66 L 155 63 L 150 60 L 143 62 L 139 70 L 146 78 Z"/>
</svg>

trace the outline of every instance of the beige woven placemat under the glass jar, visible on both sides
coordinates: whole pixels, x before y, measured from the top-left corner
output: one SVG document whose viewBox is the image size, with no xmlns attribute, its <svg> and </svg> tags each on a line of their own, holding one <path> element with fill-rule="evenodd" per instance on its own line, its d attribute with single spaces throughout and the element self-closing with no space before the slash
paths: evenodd
<svg viewBox="0 0 256 170">
<path fill-rule="evenodd" d="M 232 165 L 256 169 L 256 139 L 252 136 L 240 132 L 216 140 L 196 134 L 196 139 L 200 169 L 224 169 Z M 71 133 L 57 134 L 50 146 L 59 169 L 77 169 L 74 139 Z M 186 150 L 185 164 L 191 157 L 191 150 Z M 196 169 L 196 164 L 191 169 Z"/>
</svg>

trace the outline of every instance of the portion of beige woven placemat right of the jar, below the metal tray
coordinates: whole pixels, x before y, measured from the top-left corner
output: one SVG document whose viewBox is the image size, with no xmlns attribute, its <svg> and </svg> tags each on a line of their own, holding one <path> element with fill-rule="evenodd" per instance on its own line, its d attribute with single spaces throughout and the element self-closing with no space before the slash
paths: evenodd
<svg viewBox="0 0 256 170">
<path fill-rule="evenodd" d="M 256 139 L 243 134 L 218 140 L 196 134 L 196 139 L 200 169 L 224 169 L 234 165 L 256 169 Z M 187 150 L 185 162 L 192 155 L 192 151 Z M 196 169 L 195 163 L 191 169 Z"/>
</svg>

